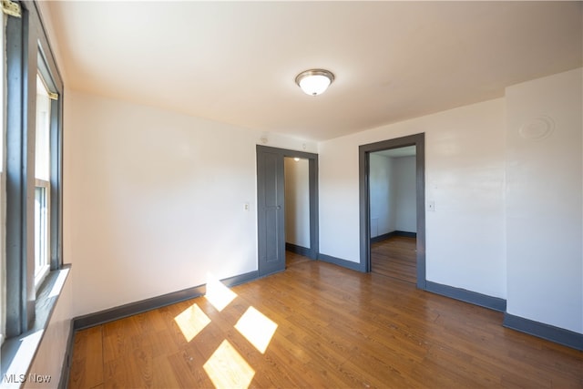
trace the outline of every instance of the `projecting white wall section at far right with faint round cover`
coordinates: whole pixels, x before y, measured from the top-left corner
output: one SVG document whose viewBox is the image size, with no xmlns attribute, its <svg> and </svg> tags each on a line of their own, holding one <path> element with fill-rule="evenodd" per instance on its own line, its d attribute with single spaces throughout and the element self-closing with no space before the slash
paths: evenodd
<svg viewBox="0 0 583 389">
<path fill-rule="evenodd" d="M 581 69 L 506 88 L 507 312 L 583 333 Z"/>
</svg>

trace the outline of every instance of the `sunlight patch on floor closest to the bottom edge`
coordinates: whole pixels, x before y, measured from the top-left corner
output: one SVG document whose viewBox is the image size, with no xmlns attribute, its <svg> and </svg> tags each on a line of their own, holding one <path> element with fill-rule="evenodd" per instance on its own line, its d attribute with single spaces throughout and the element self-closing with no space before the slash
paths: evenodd
<svg viewBox="0 0 583 389">
<path fill-rule="evenodd" d="M 225 340 L 202 366 L 217 389 L 248 388 L 255 371 Z"/>
</svg>

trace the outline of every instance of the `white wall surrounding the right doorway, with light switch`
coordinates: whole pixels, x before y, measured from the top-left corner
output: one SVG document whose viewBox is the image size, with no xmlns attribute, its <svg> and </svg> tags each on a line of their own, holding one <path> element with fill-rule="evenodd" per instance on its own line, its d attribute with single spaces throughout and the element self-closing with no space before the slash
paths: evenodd
<svg viewBox="0 0 583 389">
<path fill-rule="evenodd" d="M 425 133 L 427 280 L 506 298 L 503 98 L 320 144 L 320 251 L 359 261 L 358 147 Z"/>
</svg>

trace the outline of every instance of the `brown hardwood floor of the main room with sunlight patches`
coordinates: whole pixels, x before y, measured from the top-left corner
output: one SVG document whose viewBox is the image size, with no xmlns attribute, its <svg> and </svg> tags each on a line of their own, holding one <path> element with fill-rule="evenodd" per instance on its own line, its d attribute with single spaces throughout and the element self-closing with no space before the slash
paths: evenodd
<svg viewBox="0 0 583 389">
<path fill-rule="evenodd" d="M 75 336 L 70 388 L 581 388 L 583 353 L 411 282 L 287 270 Z M 224 305 L 224 307 L 223 307 Z"/>
</svg>

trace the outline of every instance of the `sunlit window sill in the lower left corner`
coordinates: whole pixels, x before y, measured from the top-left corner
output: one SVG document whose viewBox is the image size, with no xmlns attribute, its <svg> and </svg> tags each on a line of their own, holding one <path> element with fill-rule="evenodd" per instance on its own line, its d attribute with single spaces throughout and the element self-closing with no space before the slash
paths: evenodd
<svg viewBox="0 0 583 389">
<path fill-rule="evenodd" d="M 2 345 L 0 386 L 3 388 L 20 387 L 26 381 L 70 270 L 71 265 L 65 265 L 46 275 L 36 297 L 35 324 L 26 333 L 6 339 Z"/>
</svg>

